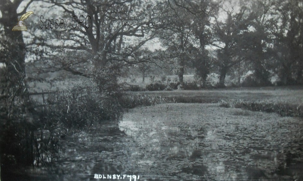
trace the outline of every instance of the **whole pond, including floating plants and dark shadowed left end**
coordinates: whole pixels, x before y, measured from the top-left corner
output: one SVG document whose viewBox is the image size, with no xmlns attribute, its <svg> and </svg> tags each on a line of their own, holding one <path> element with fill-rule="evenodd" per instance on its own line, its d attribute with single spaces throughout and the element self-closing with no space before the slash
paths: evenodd
<svg viewBox="0 0 303 181">
<path fill-rule="evenodd" d="M 16 169 L 8 180 L 302 180 L 302 141 L 299 118 L 216 104 L 138 107 L 62 140 L 52 168 Z"/>
</svg>

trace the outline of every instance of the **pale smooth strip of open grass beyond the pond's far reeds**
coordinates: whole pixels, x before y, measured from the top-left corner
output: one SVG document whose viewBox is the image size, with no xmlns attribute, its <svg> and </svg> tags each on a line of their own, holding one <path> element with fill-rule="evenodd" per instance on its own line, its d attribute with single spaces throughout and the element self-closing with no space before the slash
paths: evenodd
<svg viewBox="0 0 303 181">
<path fill-rule="evenodd" d="M 290 104 L 303 103 L 303 86 L 225 88 L 198 91 L 146 91 L 130 92 L 127 94 L 143 94 L 164 97 L 191 97 L 196 99 L 205 99 L 206 102 L 241 99 L 244 101 L 254 102 L 268 101 Z"/>
</svg>

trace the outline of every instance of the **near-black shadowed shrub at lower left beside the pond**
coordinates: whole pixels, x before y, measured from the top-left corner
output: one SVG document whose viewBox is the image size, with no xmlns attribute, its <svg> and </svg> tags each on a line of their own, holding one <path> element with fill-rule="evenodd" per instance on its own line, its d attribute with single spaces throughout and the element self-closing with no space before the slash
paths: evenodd
<svg viewBox="0 0 303 181">
<path fill-rule="evenodd" d="M 0 139 L 4 168 L 53 163 L 59 155 L 59 135 L 54 130 L 56 123 L 52 125 L 42 125 L 38 120 L 33 124 L 26 119 L 6 124 Z"/>
</svg>

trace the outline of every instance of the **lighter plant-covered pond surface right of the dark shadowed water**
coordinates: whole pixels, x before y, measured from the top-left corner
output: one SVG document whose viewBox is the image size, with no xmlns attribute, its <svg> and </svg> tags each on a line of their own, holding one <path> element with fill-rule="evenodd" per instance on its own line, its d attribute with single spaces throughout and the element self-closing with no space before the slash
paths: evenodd
<svg viewBox="0 0 303 181">
<path fill-rule="evenodd" d="M 166 104 L 124 115 L 130 158 L 145 179 L 300 180 L 303 123 L 274 113 Z"/>
</svg>

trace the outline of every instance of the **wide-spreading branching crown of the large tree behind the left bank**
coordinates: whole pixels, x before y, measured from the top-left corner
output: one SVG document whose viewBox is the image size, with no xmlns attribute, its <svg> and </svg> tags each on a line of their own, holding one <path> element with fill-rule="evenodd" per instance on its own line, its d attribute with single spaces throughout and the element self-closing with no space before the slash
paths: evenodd
<svg viewBox="0 0 303 181">
<path fill-rule="evenodd" d="M 160 2 L 139 0 L 44 2 L 44 6 L 60 10 L 61 16 L 69 18 L 69 21 L 72 21 L 74 15 L 78 15 L 78 18 L 79 15 L 84 17 L 90 15 L 86 17 L 86 26 L 88 23 L 91 24 L 89 28 L 82 23 L 75 29 L 69 25 L 69 29 L 63 30 L 55 28 L 32 30 L 29 37 L 32 38 L 30 44 L 34 45 L 33 51 L 41 52 L 40 50 L 44 49 L 42 57 L 38 58 L 48 60 L 46 61 L 48 66 L 44 70 L 65 70 L 76 75 L 92 77 L 100 88 L 104 87 L 102 84 L 105 82 L 102 79 L 107 77 L 106 74 L 110 73 L 109 77 L 112 78 L 109 81 L 115 83 L 119 67 L 139 63 L 140 61 L 134 61 L 130 57 L 147 41 L 155 38 L 158 30 L 166 24 L 162 15 L 165 9 Z M 35 44 L 39 44 L 39 47 Z M 82 56 L 71 58 L 65 56 L 66 54 Z M 111 68 L 112 71 L 108 71 Z"/>
</svg>

